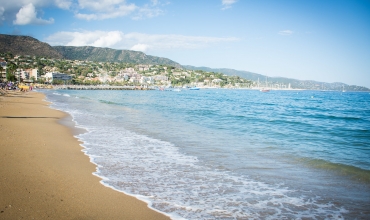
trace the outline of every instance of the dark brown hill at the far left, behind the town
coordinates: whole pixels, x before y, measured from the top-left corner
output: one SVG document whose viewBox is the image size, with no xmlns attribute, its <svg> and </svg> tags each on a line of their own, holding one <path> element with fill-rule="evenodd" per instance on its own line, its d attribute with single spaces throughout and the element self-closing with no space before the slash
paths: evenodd
<svg viewBox="0 0 370 220">
<path fill-rule="evenodd" d="M 14 55 L 42 56 L 62 59 L 63 56 L 47 43 L 29 36 L 0 34 L 0 52 Z"/>
</svg>

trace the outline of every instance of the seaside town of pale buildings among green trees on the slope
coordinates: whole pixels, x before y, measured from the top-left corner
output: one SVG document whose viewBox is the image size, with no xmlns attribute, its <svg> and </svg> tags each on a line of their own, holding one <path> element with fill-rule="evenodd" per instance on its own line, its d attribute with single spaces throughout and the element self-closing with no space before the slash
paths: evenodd
<svg viewBox="0 0 370 220">
<path fill-rule="evenodd" d="M 71 86 L 135 86 L 141 88 L 252 88 L 256 82 L 239 76 L 169 65 L 143 65 L 48 59 L 0 54 L 2 82 L 60 88 Z"/>
</svg>

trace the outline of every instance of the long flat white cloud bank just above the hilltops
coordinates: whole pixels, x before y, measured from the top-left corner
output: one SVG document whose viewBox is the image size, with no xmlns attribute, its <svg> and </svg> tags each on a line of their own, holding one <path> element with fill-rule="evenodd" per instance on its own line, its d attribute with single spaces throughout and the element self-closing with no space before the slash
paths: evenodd
<svg viewBox="0 0 370 220">
<path fill-rule="evenodd" d="M 232 37 L 150 35 L 135 32 L 124 34 L 121 31 L 81 31 L 58 32 L 46 38 L 45 41 L 51 45 L 96 46 L 147 51 L 161 49 L 198 49 L 237 40 L 237 38 Z"/>
</svg>

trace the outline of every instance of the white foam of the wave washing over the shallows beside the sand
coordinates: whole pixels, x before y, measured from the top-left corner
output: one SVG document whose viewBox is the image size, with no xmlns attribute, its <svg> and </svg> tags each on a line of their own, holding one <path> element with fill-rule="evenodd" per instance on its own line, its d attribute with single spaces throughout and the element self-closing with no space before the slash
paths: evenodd
<svg viewBox="0 0 370 220">
<path fill-rule="evenodd" d="M 105 177 L 103 184 L 150 201 L 175 219 L 310 218 L 345 211 L 320 198 L 290 196 L 294 190 L 212 170 L 171 143 L 122 127 L 89 130 L 78 138 L 98 165 L 95 174 Z"/>
</svg>

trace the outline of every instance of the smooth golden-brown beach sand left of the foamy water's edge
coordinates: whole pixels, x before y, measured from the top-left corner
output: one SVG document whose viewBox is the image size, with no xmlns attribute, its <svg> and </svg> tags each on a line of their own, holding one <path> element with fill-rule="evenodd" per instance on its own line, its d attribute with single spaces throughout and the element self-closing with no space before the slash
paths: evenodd
<svg viewBox="0 0 370 220">
<path fill-rule="evenodd" d="M 0 219 L 169 219 L 105 187 L 44 94 L 0 96 Z"/>
</svg>

